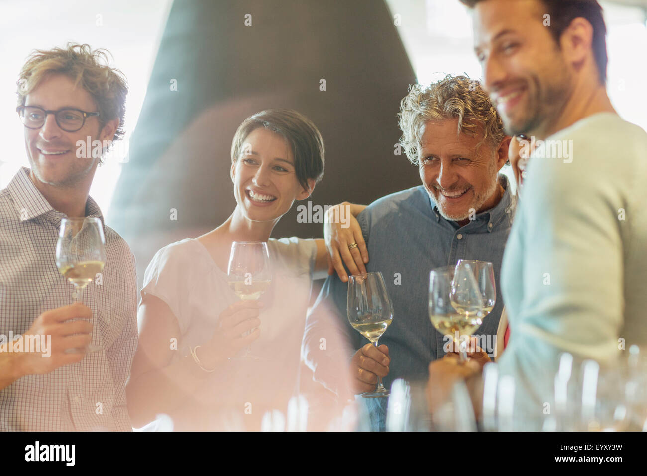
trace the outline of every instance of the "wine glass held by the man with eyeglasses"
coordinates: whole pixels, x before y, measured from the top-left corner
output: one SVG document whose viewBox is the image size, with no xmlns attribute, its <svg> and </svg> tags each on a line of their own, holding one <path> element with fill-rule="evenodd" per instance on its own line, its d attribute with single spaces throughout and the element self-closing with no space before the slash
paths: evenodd
<svg viewBox="0 0 647 476">
<path fill-rule="evenodd" d="M 77 302 L 83 302 L 83 289 L 101 273 L 105 264 L 104 227 L 99 218 L 62 218 L 56 242 L 56 267 L 74 284 Z M 88 344 L 88 352 L 102 350 Z"/>
</svg>

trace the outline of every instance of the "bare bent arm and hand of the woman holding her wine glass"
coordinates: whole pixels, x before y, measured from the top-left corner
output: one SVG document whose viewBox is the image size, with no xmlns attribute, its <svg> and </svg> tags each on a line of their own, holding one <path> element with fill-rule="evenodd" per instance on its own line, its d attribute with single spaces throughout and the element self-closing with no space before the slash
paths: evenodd
<svg viewBox="0 0 647 476">
<path fill-rule="evenodd" d="M 260 325 L 258 308 L 256 301 L 241 301 L 221 313 L 214 335 L 210 339 L 206 336 L 196 350 L 204 368 L 221 367 L 227 357 L 258 338 L 258 329 L 241 337 L 243 332 Z M 177 346 L 181 332 L 166 302 L 147 294 L 139 308 L 139 319 L 143 327 L 126 387 L 128 413 L 134 427 L 148 424 L 159 413 L 172 415 L 179 405 L 195 396 L 204 378 L 210 375 L 191 356 L 171 365 L 174 353 L 182 352 Z M 173 338 L 176 345 L 171 345 Z"/>
</svg>

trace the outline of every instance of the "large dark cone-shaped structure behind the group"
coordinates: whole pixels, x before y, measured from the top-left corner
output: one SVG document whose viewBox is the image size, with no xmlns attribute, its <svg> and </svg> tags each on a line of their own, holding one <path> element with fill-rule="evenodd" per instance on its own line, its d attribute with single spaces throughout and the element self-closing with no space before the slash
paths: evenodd
<svg viewBox="0 0 647 476">
<path fill-rule="evenodd" d="M 232 138 L 261 109 L 297 109 L 321 131 L 313 205 L 369 203 L 419 183 L 395 148 L 415 77 L 393 23 L 376 0 L 173 4 L 107 217 L 137 256 L 139 284 L 157 249 L 234 210 Z M 272 236 L 322 236 L 322 223 L 298 223 L 297 204 Z"/>
</svg>

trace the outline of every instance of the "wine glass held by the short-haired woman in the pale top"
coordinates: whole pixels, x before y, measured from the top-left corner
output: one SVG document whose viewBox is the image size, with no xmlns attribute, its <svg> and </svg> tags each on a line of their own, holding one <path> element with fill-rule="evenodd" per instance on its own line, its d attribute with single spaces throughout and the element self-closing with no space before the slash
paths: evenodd
<svg viewBox="0 0 647 476">
<path fill-rule="evenodd" d="M 272 282 L 270 253 L 265 242 L 234 242 L 227 267 L 229 287 L 241 300 L 258 300 Z M 245 335 L 250 334 L 248 331 Z M 247 346 L 243 359 L 258 359 Z"/>
</svg>

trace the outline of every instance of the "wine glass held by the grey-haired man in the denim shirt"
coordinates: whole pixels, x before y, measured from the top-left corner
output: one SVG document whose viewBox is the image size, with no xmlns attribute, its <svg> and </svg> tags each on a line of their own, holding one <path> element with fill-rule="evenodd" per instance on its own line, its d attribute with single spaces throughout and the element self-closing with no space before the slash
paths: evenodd
<svg viewBox="0 0 647 476">
<path fill-rule="evenodd" d="M 378 339 L 393 320 L 393 306 L 386 292 L 382 273 L 377 271 L 348 277 L 346 311 L 351 326 L 377 347 Z M 378 377 L 375 392 L 367 392 L 362 396 L 382 398 L 389 396 L 389 391 L 382 385 L 382 378 Z"/>
</svg>

